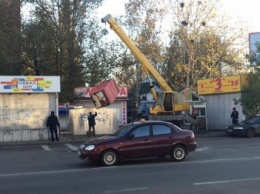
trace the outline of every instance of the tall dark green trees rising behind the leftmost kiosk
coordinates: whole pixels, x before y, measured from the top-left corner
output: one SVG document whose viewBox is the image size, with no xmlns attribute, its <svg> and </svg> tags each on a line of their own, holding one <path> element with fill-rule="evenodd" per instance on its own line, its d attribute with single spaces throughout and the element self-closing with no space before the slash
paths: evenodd
<svg viewBox="0 0 260 194">
<path fill-rule="evenodd" d="M 102 0 L 26 2 L 35 9 L 23 25 L 24 74 L 59 75 L 63 102 L 75 98 L 75 87 L 107 78 L 99 55 L 102 33 L 94 17 Z"/>
</svg>

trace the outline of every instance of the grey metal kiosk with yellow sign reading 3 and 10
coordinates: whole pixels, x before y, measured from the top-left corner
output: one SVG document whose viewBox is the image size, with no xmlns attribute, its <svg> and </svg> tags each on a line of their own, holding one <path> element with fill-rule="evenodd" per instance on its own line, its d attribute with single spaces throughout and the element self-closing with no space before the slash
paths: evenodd
<svg viewBox="0 0 260 194">
<path fill-rule="evenodd" d="M 206 101 L 207 127 L 210 130 L 224 130 L 231 124 L 232 108 L 236 107 L 239 121 L 245 118 L 240 104 L 234 99 L 241 98 L 242 87 L 247 84 L 247 75 L 234 75 L 198 80 L 198 94 Z"/>
</svg>

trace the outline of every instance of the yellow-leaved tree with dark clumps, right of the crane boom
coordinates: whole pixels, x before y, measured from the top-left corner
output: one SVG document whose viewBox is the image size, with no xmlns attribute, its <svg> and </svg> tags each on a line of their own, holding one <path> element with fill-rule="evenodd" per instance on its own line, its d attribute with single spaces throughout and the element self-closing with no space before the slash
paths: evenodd
<svg viewBox="0 0 260 194">
<path fill-rule="evenodd" d="M 175 70 L 179 86 L 196 90 L 198 79 L 223 76 L 224 64 L 236 69 L 243 63 L 244 26 L 231 26 L 219 6 L 216 0 L 170 1 L 173 26 L 167 68 Z M 171 57 L 174 51 L 178 55 Z"/>
</svg>

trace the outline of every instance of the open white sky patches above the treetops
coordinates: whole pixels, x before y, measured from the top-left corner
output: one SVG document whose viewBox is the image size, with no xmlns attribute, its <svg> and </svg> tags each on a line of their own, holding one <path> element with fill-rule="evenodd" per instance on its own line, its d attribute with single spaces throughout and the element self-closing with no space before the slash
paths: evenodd
<svg viewBox="0 0 260 194">
<path fill-rule="evenodd" d="M 185 2 L 187 0 L 183 0 Z M 124 12 L 124 4 L 128 0 L 104 0 L 99 16 L 107 14 L 116 16 Z M 243 20 L 248 26 L 248 32 L 260 32 L 260 0 L 220 0 L 223 11 L 234 19 Z M 232 20 L 231 20 L 232 22 Z"/>
</svg>

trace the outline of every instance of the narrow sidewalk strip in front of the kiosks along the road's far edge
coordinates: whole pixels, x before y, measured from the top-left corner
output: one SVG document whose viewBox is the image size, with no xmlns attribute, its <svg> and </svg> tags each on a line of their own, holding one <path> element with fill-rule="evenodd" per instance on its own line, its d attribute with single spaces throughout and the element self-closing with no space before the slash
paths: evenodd
<svg viewBox="0 0 260 194">
<path fill-rule="evenodd" d="M 221 137 L 226 136 L 225 131 L 223 130 L 203 130 L 194 132 L 195 138 L 209 138 L 209 137 Z M 97 135 L 96 137 L 103 136 Z M 52 142 L 51 140 L 43 140 L 43 141 L 23 141 L 23 142 L 0 142 L 0 149 L 1 147 L 8 147 L 8 146 L 24 146 L 24 145 L 51 145 L 51 144 L 64 144 L 64 143 L 83 143 L 87 139 L 93 137 L 88 137 L 86 135 L 72 135 L 70 133 L 62 132 L 60 134 L 60 141 L 59 142 Z"/>
</svg>

